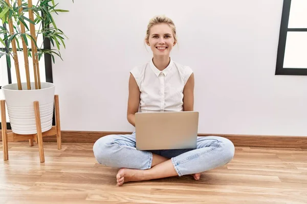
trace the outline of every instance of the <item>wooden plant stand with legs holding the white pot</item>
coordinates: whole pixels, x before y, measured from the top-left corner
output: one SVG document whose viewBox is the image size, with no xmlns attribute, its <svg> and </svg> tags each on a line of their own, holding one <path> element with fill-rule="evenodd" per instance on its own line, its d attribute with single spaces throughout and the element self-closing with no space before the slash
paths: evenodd
<svg viewBox="0 0 307 204">
<path fill-rule="evenodd" d="M 59 97 L 54 95 L 54 107 L 55 107 L 55 120 L 56 125 L 53 125 L 49 131 L 41 132 L 40 114 L 39 114 L 39 104 L 38 101 L 34 101 L 34 111 L 36 120 L 36 130 L 37 134 L 30 135 L 20 135 L 13 132 L 7 132 L 6 125 L 6 108 L 5 100 L 1 100 L 1 125 L 2 125 L 2 143 L 3 143 L 3 159 L 6 161 L 9 159 L 8 154 L 8 142 L 17 142 L 29 140 L 30 146 L 33 146 L 33 140 L 38 144 L 39 149 L 39 159 L 40 162 L 45 162 L 45 155 L 43 152 L 42 138 L 46 136 L 56 136 L 57 148 L 61 149 L 61 127 L 60 127 L 60 111 L 59 111 Z"/>
</svg>

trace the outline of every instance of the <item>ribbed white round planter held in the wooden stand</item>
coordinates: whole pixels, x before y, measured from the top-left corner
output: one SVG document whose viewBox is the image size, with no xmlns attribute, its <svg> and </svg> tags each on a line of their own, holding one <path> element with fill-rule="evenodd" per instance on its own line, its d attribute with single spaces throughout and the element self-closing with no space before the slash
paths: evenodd
<svg viewBox="0 0 307 204">
<path fill-rule="evenodd" d="M 34 101 L 39 103 L 41 132 L 49 131 L 52 127 L 54 108 L 55 85 L 41 82 L 41 89 L 27 90 L 27 83 L 22 83 L 23 90 L 18 90 L 17 84 L 9 84 L 1 87 L 6 100 L 8 115 L 12 132 L 28 135 L 36 134 L 36 121 Z"/>
</svg>

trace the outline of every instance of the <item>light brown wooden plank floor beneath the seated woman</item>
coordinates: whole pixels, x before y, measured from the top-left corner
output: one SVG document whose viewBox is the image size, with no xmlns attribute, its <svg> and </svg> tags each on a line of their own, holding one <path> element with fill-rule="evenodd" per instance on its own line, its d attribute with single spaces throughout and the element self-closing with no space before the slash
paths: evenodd
<svg viewBox="0 0 307 204">
<path fill-rule="evenodd" d="M 236 147 L 226 166 L 192 177 L 116 186 L 118 169 L 96 163 L 93 144 L 9 143 L 0 160 L 0 203 L 307 203 L 307 149 Z"/>
</svg>

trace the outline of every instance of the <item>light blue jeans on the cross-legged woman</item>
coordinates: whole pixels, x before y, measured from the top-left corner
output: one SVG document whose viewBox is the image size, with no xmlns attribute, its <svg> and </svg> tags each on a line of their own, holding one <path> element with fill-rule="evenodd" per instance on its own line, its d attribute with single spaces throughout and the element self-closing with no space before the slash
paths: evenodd
<svg viewBox="0 0 307 204">
<path fill-rule="evenodd" d="M 98 139 L 93 151 L 99 164 L 114 168 L 149 169 L 152 154 L 171 159 L 179 176 L 201 173 L 229 163 L 234 145 L 227 138 L 198 137 L 196 149 L 142 151 L 136 149 L 135 132 L 131 135 L 108 135 Z"/>
</svg>

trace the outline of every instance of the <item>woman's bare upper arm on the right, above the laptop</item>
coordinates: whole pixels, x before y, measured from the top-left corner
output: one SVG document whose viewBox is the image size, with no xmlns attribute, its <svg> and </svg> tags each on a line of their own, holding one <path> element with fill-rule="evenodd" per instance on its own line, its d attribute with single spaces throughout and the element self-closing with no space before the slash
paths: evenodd
<svg viewBox="0 0 307 204">
<path fill-rule="evenodd" d="M 194 110 L 194 73 L 190 75 L 183 89 L 183 111 Z"/>
</svg>

